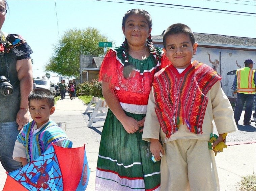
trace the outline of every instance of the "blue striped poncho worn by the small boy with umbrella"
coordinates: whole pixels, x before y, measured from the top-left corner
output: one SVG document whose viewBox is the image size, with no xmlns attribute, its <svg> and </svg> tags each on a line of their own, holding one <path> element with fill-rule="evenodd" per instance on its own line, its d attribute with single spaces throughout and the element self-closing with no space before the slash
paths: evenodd
<svg viewBox="0 0 256 191">
<path fill-rule="evenodd" d="M 62 147 L 72 147 L 72 141 L 68 139 L 67 135 L 55 122 L 49 121 L 35 134 L 33 134 L 34 125 L 35 121 L 26 124 L 17 137 L 17 140 L 26 147 L 28 162 L 45 152 L 51 146 L 51 143 L 63 141 Z"/>
</svg>

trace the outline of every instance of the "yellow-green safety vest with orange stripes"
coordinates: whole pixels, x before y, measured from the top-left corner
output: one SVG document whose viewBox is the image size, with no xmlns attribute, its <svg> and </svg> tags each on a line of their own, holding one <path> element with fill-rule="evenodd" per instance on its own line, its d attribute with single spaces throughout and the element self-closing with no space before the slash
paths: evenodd
<svg viewBox="0 0 256 191">
<path fill-rule="evenodd" d="M 236 70 L 237 92 L 243 94 L 255 94 L 254 69 L 244 67 Z"/>
</svg>

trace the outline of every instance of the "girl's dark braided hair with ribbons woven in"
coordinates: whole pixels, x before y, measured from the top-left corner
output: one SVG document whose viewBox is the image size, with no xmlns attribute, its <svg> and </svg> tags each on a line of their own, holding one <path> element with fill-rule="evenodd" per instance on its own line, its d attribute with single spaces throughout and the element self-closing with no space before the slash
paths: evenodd
<svg viewBox="0 0 256 191">
<path fill-rule="evenodd" d="M 132 9 L 132 10 L 127 11 L 125 13 L 125 15 L 123 16 L 122 27 L 125 27 L 126 19 L 132 14 L 141 14 L 142 16 L 144 16 L 148 22 L 149 29 L 152 28 L 151 16 L 147 11 L 145 11 L 143 9 Z M 153 46 L 151 35 L 149 35 L 149 37 L 147 38 L 147 47 L 148 47 L 149 52 L 154 56 L 156 63 L 159 64 L 159 55 L 158 55 L 157 51 L 155 50 L 155 47 Z M 129 78 L 131 71 L 134 69 L 134 65 L 132 63 L 130 63 L 128 60 L 129 59 L 129 47 L 128 47 L 128 42 L 127 42 L 126 38 L 125 38 L 124 42 L 122 43 L 122 52 L 123 52 L 122 57 L 124 59 L 123 76 L 124 76 L 124 78 Z"/>
</svg>

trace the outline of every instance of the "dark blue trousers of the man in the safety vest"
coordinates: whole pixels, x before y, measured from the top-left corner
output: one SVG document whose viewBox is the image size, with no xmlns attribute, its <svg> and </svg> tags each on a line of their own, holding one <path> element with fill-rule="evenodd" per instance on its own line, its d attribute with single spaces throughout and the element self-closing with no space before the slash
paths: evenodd
<svg viewBox="0 0 256 191">
<path fill-rule="evenodd" d="M 244 104 L 245 104 L 244 123 L 248 123 L 251 120 L 254 95 L 255 94 L 237 93 L 235 110 L 234 110 L 234 118 L 236 123 L 238 123 L 240 119 Z"/>
</svg>

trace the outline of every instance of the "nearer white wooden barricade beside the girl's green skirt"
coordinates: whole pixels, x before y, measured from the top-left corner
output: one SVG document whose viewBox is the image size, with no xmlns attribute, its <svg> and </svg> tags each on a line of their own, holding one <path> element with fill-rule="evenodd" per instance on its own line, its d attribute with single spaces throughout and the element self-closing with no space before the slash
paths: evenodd
<svg viewBox="0 0 256 191">
<path fill-rule="evenodd" d="M 88 123 L 87 127 L 91 127 L 93 122 L 104 122 L 106 119 L 107 112 L 108 112 L 108 105 L 106 101 L 102 99 L 98 99 L 98 102 L 96 103 L 96 106 L 90 115 L 90 118 L 89 118 L 90 122 Z M 105 117 L 100 117 L 100 116 L 105 116 Z"/>
</svg>

